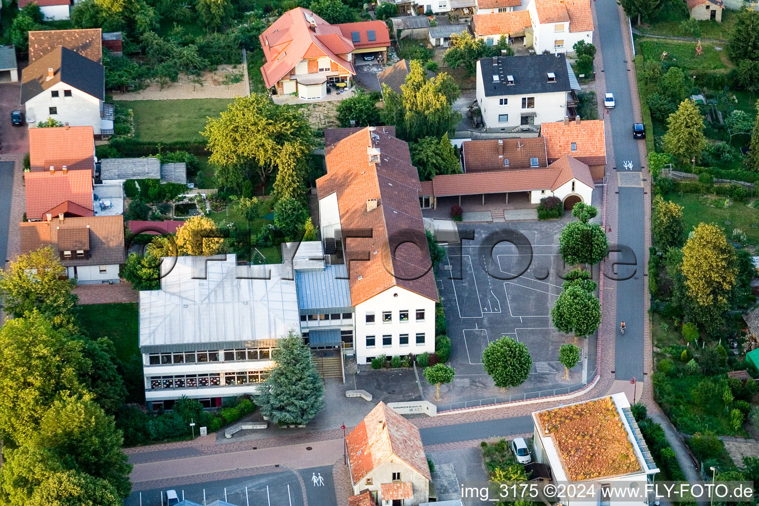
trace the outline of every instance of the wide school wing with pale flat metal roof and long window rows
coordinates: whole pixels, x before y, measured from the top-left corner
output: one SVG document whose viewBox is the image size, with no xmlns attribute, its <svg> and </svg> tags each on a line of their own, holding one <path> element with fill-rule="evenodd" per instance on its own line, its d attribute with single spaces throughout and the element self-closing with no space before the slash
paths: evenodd
<svg viewBox="0 0 759 506">
<path fill-rule="evenodd" d="M 258 393 L 278 338 L 300 333 L 295 282 L 282 264 L 238 266 L 235 255 L 162 262 L 161 289 L 140 291 L 145 399 L 171 409 Z"/>
</svg>

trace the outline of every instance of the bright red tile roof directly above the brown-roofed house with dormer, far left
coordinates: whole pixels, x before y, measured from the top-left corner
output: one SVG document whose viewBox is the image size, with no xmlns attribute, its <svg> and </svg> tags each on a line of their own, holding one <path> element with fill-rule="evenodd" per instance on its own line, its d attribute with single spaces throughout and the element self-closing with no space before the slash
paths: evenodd
<svg viewBox="0 0 759 506">
<path fill-rule="evenodd" d="M 47 212 L 60 209 L 58 206 L 67 200 L 77 209 L 86 209 L 87 216 L 94 215 L 92 171 L 24 172 L 24 186 L 27 219 L 44 219 Z"/>
</svg>

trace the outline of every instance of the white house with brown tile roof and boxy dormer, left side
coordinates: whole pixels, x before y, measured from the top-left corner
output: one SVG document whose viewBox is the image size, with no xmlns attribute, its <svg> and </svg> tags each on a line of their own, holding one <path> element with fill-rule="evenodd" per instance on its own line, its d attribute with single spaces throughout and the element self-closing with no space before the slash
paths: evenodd
<svg viewBox="0 0 759 506">
<path fill-rule="evenodd" d="M 20 229 L 21 253 L 52 247 L 78 284 L 119 282 L 118 267 L 126 260 L 122 216 L 67 218 L 60 212 L 44 222 L 21 223 Z"/>
</svg>

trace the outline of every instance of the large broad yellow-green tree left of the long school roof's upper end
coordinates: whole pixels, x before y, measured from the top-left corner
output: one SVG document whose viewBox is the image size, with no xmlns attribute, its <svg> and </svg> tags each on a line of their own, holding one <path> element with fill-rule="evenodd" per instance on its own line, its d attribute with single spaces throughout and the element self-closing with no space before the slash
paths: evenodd
<svg viewBox="0 0 759 506">
<path fill-rule="evenodd" d="M 217 182 L 234 188 L 253 174 L 266 187 L 266 178 L 283 163 L 305 163 L 313 143 L 310 124 L 297 108 L 273 104 L 260 93 L 235 98 L 219 118 L 208 119 L 201 134 L 208 139 Z"/>
</svg>

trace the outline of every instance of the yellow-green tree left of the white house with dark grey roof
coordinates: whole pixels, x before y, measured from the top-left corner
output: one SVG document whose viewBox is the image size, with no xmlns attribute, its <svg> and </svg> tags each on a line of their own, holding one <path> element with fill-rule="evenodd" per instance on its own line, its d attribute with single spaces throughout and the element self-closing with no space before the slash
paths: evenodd
<svg viewBox="0 0 759 506">
<path fill-rule="evenodd" d="M 445 72 L 430 78 L 420 61 L 412 60 L 410 66 L 402 94 L 383 85 L 383 120 L 394 124 L 398 137 L 408 141 L 451 133 L 461 121 L 461 113 L 453 110 L 461 90 Z"/>
</svg>

